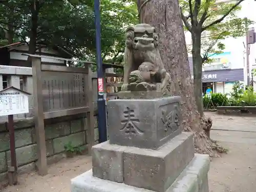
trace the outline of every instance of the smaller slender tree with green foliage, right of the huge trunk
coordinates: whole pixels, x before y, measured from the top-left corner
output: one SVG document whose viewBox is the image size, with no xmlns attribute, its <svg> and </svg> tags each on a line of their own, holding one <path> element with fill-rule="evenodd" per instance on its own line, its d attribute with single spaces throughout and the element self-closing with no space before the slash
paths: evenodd
<svg viewBox="0 0 256 192">
<path fill-rule="evenodd" d="M 183 24 L 192 37 L 194 92 L 201 115 L 203 115 L 202 65 L 209 61 L 209 55 L 220 53 L 225 48 L 220 39 L 245 34 L 246 27 L 251 21 L 236 15 L 243 1 L 245 0 L 221 3 L 216 0 L 180 0 Z M 202 33 L 205 33 L 206 37 L 202 38 Z"/>
</svg>

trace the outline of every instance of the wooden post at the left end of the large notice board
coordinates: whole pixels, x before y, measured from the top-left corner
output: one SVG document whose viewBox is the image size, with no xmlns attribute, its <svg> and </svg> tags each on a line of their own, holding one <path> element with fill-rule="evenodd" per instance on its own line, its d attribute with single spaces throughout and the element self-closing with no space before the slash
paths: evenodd
<svg viewBox="0 0 256 192">
<path fill-rule="evenodd" d="M 35 136 L 37 144 L 37 169 L 40 176 L 47 175 L 44 111 L 42 108 L 41 58 L 32 57 Z"/>
</svg>

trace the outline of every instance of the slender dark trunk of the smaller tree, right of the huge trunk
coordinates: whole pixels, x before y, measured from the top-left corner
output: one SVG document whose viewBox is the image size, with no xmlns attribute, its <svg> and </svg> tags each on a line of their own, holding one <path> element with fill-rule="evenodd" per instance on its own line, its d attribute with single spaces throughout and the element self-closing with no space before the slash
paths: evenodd
<svg viewBox="0 0 256 192">
<path fill-rule="evenodd" d="M 193 40 L 193 71 L 194 71 L 194 94 L 197 110 L 203 117 L 203 97 L 202 97 L 202 57 L 201 57 L 201 29 L 196 34 L 192 33 Z M 199 35 L 198 35 L 199 34 Z"/>
</svg>

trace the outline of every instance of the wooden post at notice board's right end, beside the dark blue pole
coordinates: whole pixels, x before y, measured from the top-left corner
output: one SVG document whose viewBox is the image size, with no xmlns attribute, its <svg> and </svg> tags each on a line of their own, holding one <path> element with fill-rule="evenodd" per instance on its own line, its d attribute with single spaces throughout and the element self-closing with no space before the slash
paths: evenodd
<svg viewBox="0 0 256 192">
<path fill-rule="evenodd" d="M 87 116 L 87 122 L 88 122 L 88 139 L 89 139 L 89 155 L 91 155 L 92 152 L 92 146 L 94 145 L 94 105 L 93 105 L 93 90 L 92 90 L 92 70 L 89 67 L 88 72 L 88 100 L 90 105 L 90 112 Z"/>
</svg>

